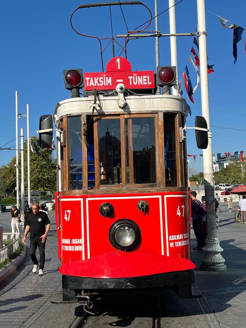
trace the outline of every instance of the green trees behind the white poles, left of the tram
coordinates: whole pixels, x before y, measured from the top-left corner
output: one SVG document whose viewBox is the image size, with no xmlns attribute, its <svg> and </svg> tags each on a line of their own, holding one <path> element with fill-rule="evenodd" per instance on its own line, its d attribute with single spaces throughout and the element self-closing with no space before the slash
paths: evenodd
<svg viewBox="0 0 246 328">
<path fill-rule="evenodd" d="M 37 138 L 31 137 L 37 145 Z M 33 147 L 34 148 L 34 147 Z M 53 155 L 53 151 L 40 148 L 37 145 L 39 155 L 35 150 L 32 153 L 30 151 L 30 172 L 31 172 L 31 190 L 51 191 L 54 193 L 56 190 L 56 161 Z M 7 165 L 3 165 L 0 168 L 0 193 L 3 195 L 2 177 L 6 177 L 6 192 L 7 195 L 13 195 L 16 187 L 16 156 L 14 156 Z M 21 163 L 21 152 L 19 152 L 19 164 Z M 27 140 L 24 142 L 24 177 L 25 177 L 25 189 L 27 189 Z M 21 166 L 19 169 L 19 176 L 21 176 Z M 20 179 L 19 179 L 20 180 Z M 21 181 L 20 181 L 21 182 Z M 48 199 L 50 200 L 50 199 Z"/>
</svg>

